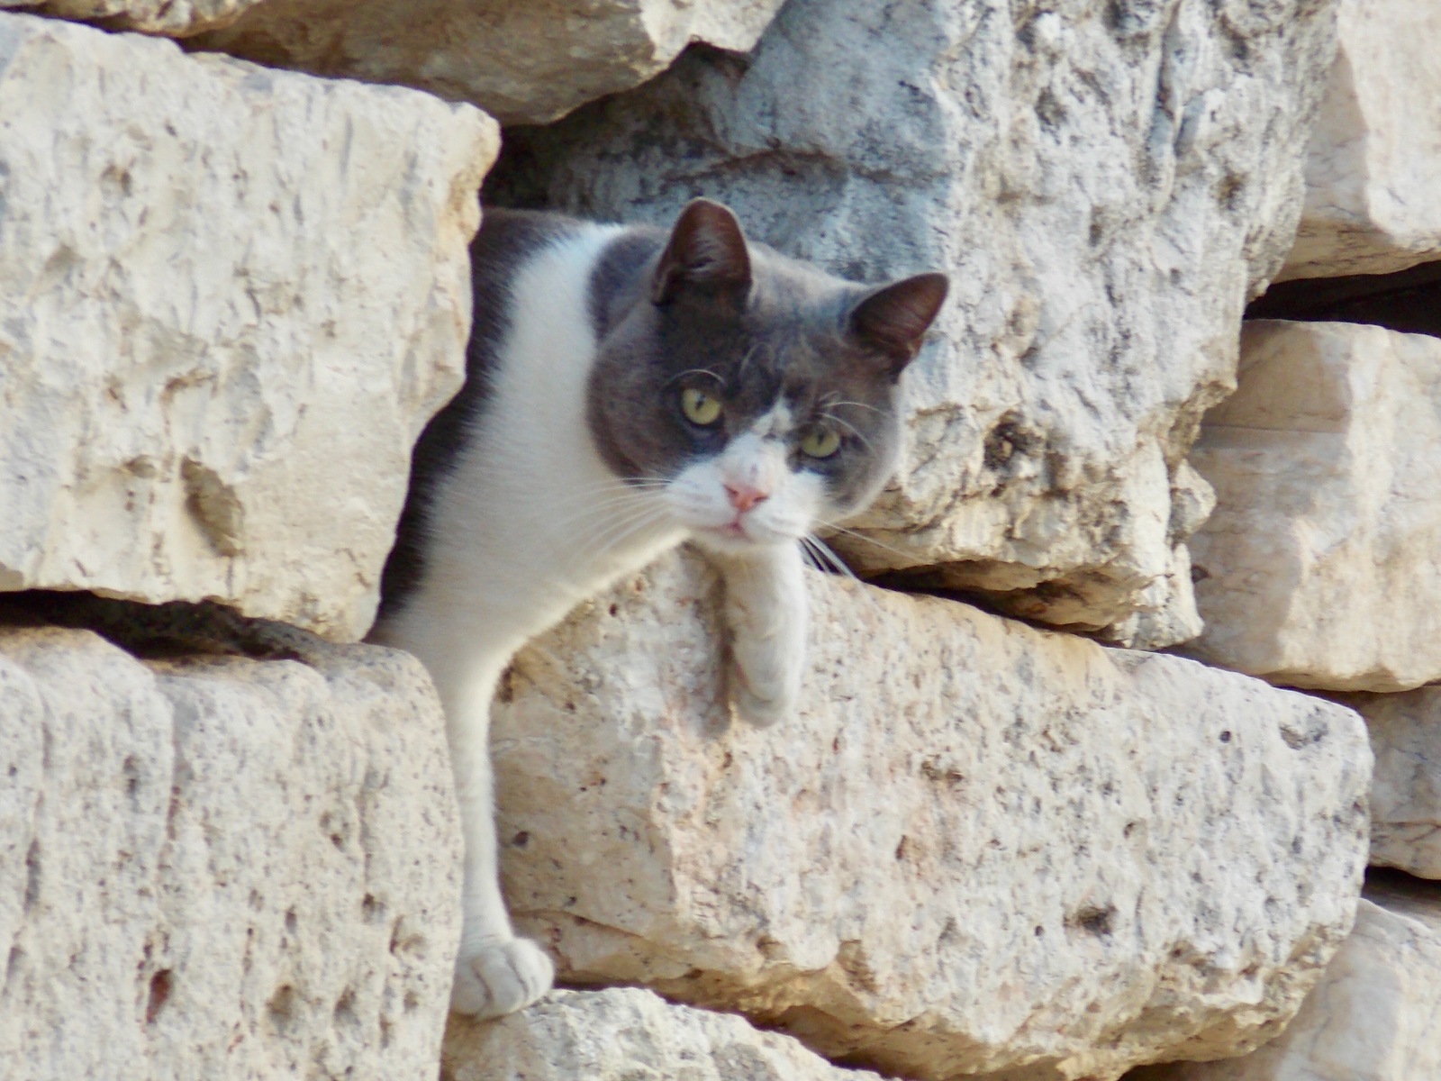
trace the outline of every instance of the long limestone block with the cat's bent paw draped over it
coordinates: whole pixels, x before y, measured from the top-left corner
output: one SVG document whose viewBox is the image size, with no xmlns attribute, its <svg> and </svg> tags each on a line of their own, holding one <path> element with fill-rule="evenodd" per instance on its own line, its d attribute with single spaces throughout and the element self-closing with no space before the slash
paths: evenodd
<svg viewBox="0 0 1441 1081">
<path fill-rule="evenodd" d="M 504 886 L 562 979 L 741 1010 L 908 1078 L 1236 1054 L 1350 927 L 1349 709 L 813 575 L 804 709 L 729 725 L 679 558 L 497 695 Z"/>
</svg>

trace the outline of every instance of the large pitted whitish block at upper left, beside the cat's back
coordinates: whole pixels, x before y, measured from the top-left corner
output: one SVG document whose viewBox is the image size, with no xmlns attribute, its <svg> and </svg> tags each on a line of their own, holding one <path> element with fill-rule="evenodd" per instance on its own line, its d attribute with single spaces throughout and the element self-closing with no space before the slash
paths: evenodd
<svg viewBox="0 0 1441 1081">
<path fill-rule="evenodd" d="M 0 591 L 370 624 L 496 125 L 0 14 Z"/>
</svg>

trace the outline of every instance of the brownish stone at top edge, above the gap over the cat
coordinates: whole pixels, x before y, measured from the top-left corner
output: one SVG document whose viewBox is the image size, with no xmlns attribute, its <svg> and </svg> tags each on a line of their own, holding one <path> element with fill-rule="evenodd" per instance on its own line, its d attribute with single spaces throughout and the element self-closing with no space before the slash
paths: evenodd
<svg viewBox="0 0 1441 1081">
<path fill-rule="evenodd" d="M 196 39 L 317 75 L 403 82 L 542 124 L 630 89 L 689 42 L 745 52 L 781 0 L 268 0 Z"/>
</svg>

